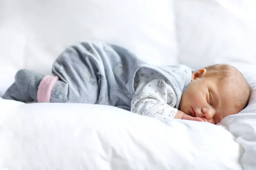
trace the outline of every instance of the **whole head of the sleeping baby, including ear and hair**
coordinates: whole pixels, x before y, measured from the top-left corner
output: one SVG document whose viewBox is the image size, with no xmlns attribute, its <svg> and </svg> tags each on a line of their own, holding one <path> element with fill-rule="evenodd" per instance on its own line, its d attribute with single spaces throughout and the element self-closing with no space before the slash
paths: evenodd
<svg viewBox="0 0 256 170">
<path fill-rule="evenodd" d="M 211 65 L 193 72 L 179 110 L 217 124 L 243 110 L 249 98 L 250 86 L 236 68 L 227 64 Z"/>
</svg>

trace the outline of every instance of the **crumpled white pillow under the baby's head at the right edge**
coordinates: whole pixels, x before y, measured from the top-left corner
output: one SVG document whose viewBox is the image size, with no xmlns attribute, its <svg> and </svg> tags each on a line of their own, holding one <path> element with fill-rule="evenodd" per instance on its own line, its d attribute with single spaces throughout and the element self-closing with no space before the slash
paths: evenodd
<svg viewBox="0 0 256 170">
<path fill-rule="evenodd" d="M 237 62 L 230 64 L 241 71 L 247 79 L 252 93 L 248 106 L 243 111 L 222 119 L 219 125 L 229 127 L 230 133 L 237 136 L 235 141 L 244 148 L 244 154 L 241 156 L 242 167 L 244 170 L 252 170 L 256 167 L 256 65 Z"/>
</svg>

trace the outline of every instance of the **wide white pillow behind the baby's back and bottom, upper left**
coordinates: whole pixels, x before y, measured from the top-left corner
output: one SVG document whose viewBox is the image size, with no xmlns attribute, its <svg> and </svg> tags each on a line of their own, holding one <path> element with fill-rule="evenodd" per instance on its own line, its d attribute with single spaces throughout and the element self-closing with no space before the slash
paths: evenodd
<svg viewBox="0 0 256 170">
<path fill-rule="evenodd" d="M 2 1 L 1 34 L 24 35 L 25 68 L 50 72 L 67 46 L 85 40 L 122 45 L 152 64 L 177 63 L 172 0 Z"/>
</svg>

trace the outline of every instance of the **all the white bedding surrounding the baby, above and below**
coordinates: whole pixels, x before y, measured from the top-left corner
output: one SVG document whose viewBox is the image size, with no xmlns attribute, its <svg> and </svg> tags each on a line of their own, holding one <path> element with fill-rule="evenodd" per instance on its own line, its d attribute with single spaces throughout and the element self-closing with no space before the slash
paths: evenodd
<svg viewBox="0 0 256 170">
<path fill-rule="evenodd" d="M 58 54 L 82 40 L 123 45 L 152 64 L 228 62 L 256 89 L 255 3 L 2 0 L 0 95 L 17 69 L 49 73 Z M 0 98 L 0 169 L 254 170 L 255 146 L 256 91 L 244 111 L 217 126 Z"/>
</svg>

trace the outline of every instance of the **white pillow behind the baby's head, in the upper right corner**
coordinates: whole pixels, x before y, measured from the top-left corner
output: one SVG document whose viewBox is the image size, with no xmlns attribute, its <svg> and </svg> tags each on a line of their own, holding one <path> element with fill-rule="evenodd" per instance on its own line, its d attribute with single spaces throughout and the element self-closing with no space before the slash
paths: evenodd
<svg viewBox="0 0 256 170">
<path fill-rule="evenodd" d="M 256 64 L 255 0 L 175 0 L 179 61 Z"/>
</svg>

